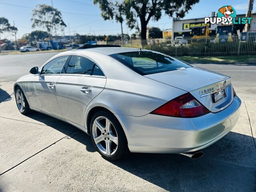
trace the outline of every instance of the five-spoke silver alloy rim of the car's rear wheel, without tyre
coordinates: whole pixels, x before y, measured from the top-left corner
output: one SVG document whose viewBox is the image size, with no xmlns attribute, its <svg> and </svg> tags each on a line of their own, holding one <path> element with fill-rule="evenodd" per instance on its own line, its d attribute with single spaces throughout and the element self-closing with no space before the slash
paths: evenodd
<svg viewBox="0 0 256 192">
<path fill-rule="evenodd" d="M 118 148 L 118 135 L 112 122 L 104 117 L 97 117 L 92 124 L 92 136 L 100 152 L 106 156 L 115 154 Z"/>
</svg>

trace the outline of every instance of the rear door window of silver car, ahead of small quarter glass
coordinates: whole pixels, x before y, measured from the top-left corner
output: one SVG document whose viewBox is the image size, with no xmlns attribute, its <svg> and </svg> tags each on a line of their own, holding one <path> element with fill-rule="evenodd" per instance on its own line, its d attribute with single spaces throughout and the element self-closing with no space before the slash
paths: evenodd
<svg viewBox="0 0 256 192">
<path fill-rule="evenodd" d="M 66 73 L 68 74 L 88 74 L 92 72 L 94 62 L 82 56 L 72 55 Z"/>
</svg>

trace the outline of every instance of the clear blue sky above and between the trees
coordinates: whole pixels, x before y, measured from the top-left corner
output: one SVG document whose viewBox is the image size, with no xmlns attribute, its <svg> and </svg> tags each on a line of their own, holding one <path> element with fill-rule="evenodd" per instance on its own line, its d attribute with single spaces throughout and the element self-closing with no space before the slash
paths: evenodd
<svg viewBox="0 0 256 192">
<path fill-rule="evenodd" d="M 93 0 L 52 0 L 54 8 L 62 12 L 63 20 L 67 26 L 70 26 L 70 34 L 78 33 L 110 35 L 120 34 L 120 23 L 110 20 L 104 20 L 100 15 L 100 9 L 93 4 Z M 236 9 L 236 14 L 245 14 L 248 8 L 249 0 L 226 0 L 225 4 L 231 5 Z M 17 38 L 30 33 L 37 28 L 31 28 L 32 8 L 37 4 L 51 5 L 51 0 L 0 0 L 0 17 L 5 17 L 11 24 L 15 22 L 18 28 Z M 186 14 L 184 19 L 201 18 L 211 16 L 211 12 L 218 12 L 223 6 L 223 0 L 200 0 Z M 256 6 L 253 8 L 256 12 Z M 163 14 L 160 20 L 150 20 L 149 27 L 159 27 L 162 30 L 172 28 L 172 18 Z M 130 30 L 126 24 L 123 24 L 123 31 L 131 35 L 135 30 Z M 69 35 L 68 27 L 64 30 L 65 35 Z M 60 34 L 58 34 L 60 35 Z"/>
</svg>

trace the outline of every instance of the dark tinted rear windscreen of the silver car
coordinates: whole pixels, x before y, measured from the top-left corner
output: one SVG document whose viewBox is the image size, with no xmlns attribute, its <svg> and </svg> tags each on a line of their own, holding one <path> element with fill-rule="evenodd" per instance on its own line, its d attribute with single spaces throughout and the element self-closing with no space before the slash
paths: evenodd
<svg viewBox="0 0 256 192">
<path fill-rule="evenodd" d="M 192 67 L 170 56 L 151 51 L 117 53 L 110 56 L 141 75 Z"/>
</svg>

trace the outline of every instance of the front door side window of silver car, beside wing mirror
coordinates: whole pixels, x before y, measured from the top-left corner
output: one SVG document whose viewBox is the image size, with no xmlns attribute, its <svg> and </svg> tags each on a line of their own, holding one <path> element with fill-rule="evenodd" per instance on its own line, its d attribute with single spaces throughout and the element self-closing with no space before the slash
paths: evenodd
<svg viewBox="0 0 256 192">
<path fill-rule="evenodd" d="M 51 60 L 42 68 L 41 74 L 60 74 L 67 59 L 68 55 Z"/>
</svg>

